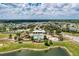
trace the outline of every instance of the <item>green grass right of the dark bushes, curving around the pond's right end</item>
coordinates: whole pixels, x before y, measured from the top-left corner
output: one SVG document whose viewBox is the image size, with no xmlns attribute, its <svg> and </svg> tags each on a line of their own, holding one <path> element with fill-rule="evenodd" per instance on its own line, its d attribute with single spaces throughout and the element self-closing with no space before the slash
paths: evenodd
<svg viewBox="0 0 79 59">
<path fill-rule="evenodd" d="M 75 42 L 53 42 L 53 46 L 64 46 L 73 54 L 73 56 L 79 56 L 79 45 Z"/>
</svg>

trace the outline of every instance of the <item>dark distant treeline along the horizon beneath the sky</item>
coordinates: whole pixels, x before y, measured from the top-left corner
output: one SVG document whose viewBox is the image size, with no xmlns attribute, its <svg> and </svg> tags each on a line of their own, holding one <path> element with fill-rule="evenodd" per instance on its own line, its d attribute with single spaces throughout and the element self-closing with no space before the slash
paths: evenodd
<svg viewBox="0 0 79 59">
<path fill-rule="evenodd" d="M 11 19 L 11 20 L 0 20 L 0 23 L 20 23 L 20 22 L 71 22 L 71 23 L 79 23 L 78 19 Z"/>
</svg>

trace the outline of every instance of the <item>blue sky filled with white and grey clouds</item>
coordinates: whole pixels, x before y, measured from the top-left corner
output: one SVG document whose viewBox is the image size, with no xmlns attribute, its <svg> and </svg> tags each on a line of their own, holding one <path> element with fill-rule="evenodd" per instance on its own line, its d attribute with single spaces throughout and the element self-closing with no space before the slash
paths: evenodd
<svg viewBox="0 0 79 59">
<path fill-rule="evenodd" d="M 0 3 L 0 19 L 79 19 L 79 4 Z"/>
</svg>

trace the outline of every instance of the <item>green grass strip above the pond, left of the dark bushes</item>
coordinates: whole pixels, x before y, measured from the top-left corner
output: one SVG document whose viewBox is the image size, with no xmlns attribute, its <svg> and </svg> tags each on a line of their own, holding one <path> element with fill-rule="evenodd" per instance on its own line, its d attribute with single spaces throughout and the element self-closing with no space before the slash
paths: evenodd
<svg viewBox="0 0 79 59">
<path fill-rule="evenodd" d="M 11 51 L 11 50 L 15 50 L 15 49 L 19 49 L 19 48 L 36 48 L 36 49 L 43 49 L 43 48 L 47 48 L 47 46 L 45 46 L 42 43 L 15 43 L 15 42 L 7 42 L 6 44 L 4 43 L 4 46 L 0 47 L 0 52 L 5 52 L 5 51 Z"/>
</svg>

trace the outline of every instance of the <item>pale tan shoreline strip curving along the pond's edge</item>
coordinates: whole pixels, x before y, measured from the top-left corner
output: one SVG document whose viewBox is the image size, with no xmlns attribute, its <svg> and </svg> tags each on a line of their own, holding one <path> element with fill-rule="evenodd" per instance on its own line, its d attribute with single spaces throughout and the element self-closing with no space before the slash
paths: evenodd
<svg viewBox="0 0 79 59">
<path fill-rule="evenodd" d="M 73 56 L 73 54 L 64 46 L 54 46 L 54 47 L 48 47 L 48 48 L 44 48 L 44 49 L 36 49 L 36 48 L 19 48 L 19 49 L 15 49 L 15 50 L 11 50 L 11 51 L 6 51 L 6 52 L 0 52 L 0 54 L 5 54 L 5 53 L 12 53 L 12 52 L 16 52 L 16 51 L 20 51 L 20 50 L 31 50 L 31 51 L 44 51 L 44 50 L 49 50 L 52 48 L 62 48 L 65 49 L 69 56 Z"/>
</svg>

